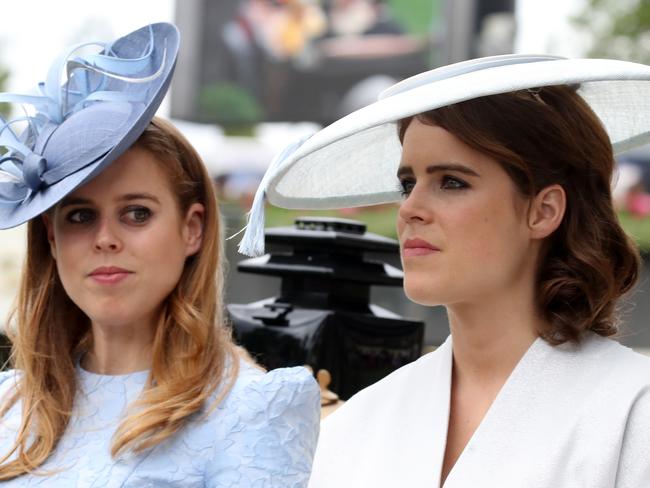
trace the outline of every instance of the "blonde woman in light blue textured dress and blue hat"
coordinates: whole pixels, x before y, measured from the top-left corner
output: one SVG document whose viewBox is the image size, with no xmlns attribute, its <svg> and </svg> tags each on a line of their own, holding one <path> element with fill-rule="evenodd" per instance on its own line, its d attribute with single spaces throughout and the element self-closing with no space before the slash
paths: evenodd
<svg viewBox="0 0 650 488">
<path fill-rule="evenodd" d="M 0 140 L 0 227 L 28 221 L 15 369 L 0 374 L 3 486 L 306 486 L 318 387 L 232 343 L 211 180 L 152 118 L 177 46 L 155 24 L 70 51 L 43 99 L 0 95 L 38 110 Z"/>
</svg>

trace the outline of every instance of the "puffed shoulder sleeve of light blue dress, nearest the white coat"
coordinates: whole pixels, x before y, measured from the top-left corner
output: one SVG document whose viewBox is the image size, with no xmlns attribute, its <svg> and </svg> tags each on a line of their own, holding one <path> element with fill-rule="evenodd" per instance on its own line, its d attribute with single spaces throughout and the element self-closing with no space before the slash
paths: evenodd
<svg viewBox="0 0 650 488">
<path fill-rule="evenodd" d="M 269 372 L 241 362 L 235 385 L 214 412 L 207 486 L 236 476 L 238 486 L 307 485 L 320 422 L 320 389 L 302 367 Z M 230 485 L 227 485 L 230 486 Z"/>
</svg>

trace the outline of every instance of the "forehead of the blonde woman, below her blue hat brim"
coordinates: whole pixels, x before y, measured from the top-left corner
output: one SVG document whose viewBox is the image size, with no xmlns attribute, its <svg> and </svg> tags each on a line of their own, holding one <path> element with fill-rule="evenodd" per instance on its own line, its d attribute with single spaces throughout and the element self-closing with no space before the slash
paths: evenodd
<svg viewBox="0 0 650 488">
<path fill-rule="evenodd" d="M 69 197 L 96 199 L 100 196 L 145 190 L 155 193 L 171 192 L 169 178 L 162 165 L 160 160 L 144 149 L 129 149 Z"/>
</svg>

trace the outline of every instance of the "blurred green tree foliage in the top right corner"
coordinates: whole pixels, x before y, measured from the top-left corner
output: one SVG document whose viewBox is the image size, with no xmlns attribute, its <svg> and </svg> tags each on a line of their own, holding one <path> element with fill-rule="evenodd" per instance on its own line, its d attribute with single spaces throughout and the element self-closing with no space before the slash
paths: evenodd
<svg viewBox="0 0 650 488">
<path fill-rule="evenodd" d="M 650 64 L 650 0 L 587 0 L 573 22 L 591 38 L 589 56 Z"/>
</svg>

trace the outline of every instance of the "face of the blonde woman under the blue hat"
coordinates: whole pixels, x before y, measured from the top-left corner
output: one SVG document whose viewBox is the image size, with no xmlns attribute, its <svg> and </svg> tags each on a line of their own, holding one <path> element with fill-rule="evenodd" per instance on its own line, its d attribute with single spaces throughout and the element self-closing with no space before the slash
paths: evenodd
<svg viewBox="0 0 650 488">
<path fill-rule="evenodd" d="M 181 215 L 161 163 L 135 148 L 44 221 L 63 287 L 94 324 L 153 327 L 200 248 L 202 215 Z"/>
</svg>

